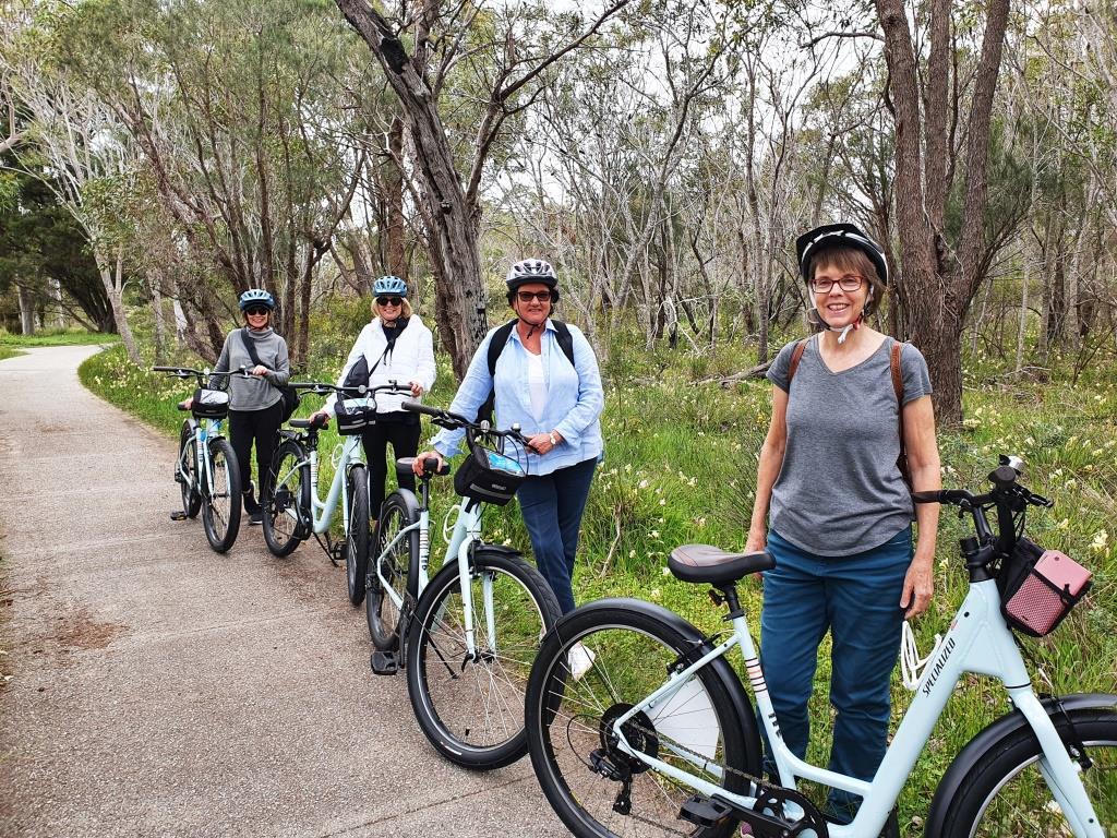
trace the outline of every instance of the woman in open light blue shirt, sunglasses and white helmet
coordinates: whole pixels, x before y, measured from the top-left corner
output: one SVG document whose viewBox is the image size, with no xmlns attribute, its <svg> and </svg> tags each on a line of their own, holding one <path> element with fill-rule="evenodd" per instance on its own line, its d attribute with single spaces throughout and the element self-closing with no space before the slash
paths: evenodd
<svg viewBox="0 0 1117 838">
<path fill-rule="evenodd" d="M 554 268 L 542 259 L 524 259 L 512 266 L 507 285 L 515 325 L 510 331 L 495 328 L 485 336 L 450 411 L 476 416 L 495 391 L 499 426 L 518 423 L 529 438 L 528 477 L 516 497 L 535 562 L 566 613 L 574 610 L 574 554 L 603 448 L 600 418 L 604 392 L 598 359 L 585 335 L 576 326 L 556 326 L 551 320 L 558 301 Z M 562 347 L 564 330 L 573 344 L 573 363 Z M 489 344 L 497 334 L 507 334 L 507 343 L 495 373 L 489 374 Z M 416 472 L 422 473 L 424 456 L 442 459 L 457 453 L 464 435 L 462 430 L 440 431 L 431 442 L 435 450 L 416 457 Z M 580 663 L 572 657 L 572 668 Z"/>
</svg>

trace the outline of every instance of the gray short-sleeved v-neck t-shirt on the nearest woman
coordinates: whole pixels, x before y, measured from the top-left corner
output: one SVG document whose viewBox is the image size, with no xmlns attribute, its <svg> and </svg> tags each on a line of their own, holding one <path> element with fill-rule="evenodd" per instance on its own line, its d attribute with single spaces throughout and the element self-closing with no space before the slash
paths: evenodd
<svg viewBox="0 0 1117 838">
<path fill-rule="evenodd" d="M 770 524 L 815 555 L 850 555 L 880 546 L 911 522 L 911 496 L 896 458 L 899 406 L 886 337 L 861 363 L 832 372 L 812 337 L 787 383 L 789 343 L 767 378 L 787 392 L 787 444 L 772 487 Z M 927 362 L 909 343 L 900 353 L 904 403 L 930 393 Z"/>
</svg>

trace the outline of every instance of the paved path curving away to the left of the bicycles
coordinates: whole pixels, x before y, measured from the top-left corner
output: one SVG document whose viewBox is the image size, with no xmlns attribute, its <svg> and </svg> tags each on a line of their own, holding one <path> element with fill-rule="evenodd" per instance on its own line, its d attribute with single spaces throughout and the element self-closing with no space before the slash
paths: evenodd
<svg viewBox="0 0 1117 838">
<path fill-rule="evenodd" d="M 562 836 L 526 761 L 428 745 L 316 544 L 172 522 L 174 441 L 0 362 L 0 836 Z"/>
</svg>

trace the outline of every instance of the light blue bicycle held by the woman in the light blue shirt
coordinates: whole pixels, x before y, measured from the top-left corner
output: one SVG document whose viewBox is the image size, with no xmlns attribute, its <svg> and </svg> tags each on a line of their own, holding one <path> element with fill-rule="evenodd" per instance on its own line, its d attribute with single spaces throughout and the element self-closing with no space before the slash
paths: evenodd
<svg viewBox="0 0 1117 838">
<path fill-rule="evenodd" d="M 546 580 L 519 552 L 481 536 L 483 499 L 507 503 L 512 483 L 524 475 L 517 459 L 505 456 L 504 442 L 526 439 L 517 428 L 498 430 L 418 402 L 405 401 L 403 409 L 443 428 L 465 428 L 469 457 L 455 476 L 462 497 L 450 511 L 451 532 L 443 527 L 446 553 L 433 578 L 429 502 L 438 460 L 423 464 L 419 498 L 400 488 L 384 501 L 366 580 L 369 631 L 378 648 L 372 668 L 391 675 L 405 665 L 416 720 L 439 753 L 475 770 L 500 768 L 527 753 L 527 676 L 540 640 L 561 613 Z M 480 461 L 488 465 L 477 470 Z"/>
</svg>

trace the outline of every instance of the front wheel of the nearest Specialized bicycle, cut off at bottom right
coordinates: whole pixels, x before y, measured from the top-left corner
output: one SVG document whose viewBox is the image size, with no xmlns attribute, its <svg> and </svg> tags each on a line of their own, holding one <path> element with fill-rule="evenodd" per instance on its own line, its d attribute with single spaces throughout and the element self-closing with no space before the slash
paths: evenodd
<svg viewBox="0 0 1117 838">
<path fill-rule="evenodd" d="M 1077 708 L 1068 715 L 1094 763 L 1080 777 L 1101 821 L 1101 834 L 1117 835 L 1117 711 Z M 1058 717 L 1052 722 L 1066 740 L 1067 723 Z M 1070 835 L 1039 772 L 1041 755 L 1028 726 L 996 742 L 962 780 L 947 807 L 943 831 L 935 838 Z"/>
</svg>

